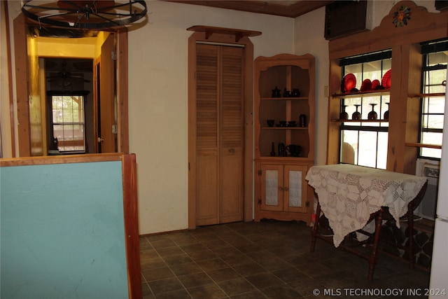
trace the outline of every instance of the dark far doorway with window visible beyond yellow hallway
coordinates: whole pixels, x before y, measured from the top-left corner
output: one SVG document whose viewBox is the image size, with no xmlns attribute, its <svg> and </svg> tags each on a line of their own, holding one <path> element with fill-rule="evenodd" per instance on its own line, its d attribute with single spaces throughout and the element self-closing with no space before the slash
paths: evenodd
<svg viewBox="0 0 448 299">
<path fill-rule="evenodd" d="M 45 69 L 48 154 L 96 153 L 93 60 L 40 60 Z"/>
</svg>

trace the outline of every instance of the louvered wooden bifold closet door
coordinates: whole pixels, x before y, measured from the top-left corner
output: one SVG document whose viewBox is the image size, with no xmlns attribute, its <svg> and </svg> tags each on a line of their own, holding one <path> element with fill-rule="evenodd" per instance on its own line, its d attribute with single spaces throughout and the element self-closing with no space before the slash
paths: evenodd
<svg viewBox="0 0 448 299">
<path fill-rule="evenodd" d="M 243 220 L 243 51 L 197 44 L 197 225 Z"/>
</svg>

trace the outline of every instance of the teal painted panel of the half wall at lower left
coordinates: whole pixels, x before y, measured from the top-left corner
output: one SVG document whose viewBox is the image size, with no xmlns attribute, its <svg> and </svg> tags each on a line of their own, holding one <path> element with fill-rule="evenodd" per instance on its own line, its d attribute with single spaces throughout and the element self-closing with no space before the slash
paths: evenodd
<svg viewBox="0 0 448 299">
<path fill-rule="evenodd" d="M 121 161 L 0 168 L 0 298 L 128 298 Z"/>
</svg>

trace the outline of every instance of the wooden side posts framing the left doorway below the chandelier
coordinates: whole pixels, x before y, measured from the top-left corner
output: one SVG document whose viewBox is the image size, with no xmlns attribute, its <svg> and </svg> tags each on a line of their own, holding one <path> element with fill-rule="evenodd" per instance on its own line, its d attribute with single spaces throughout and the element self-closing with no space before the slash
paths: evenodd
<svg viewBox="0 0 448 299">
<path fill-rule="evenodd" d="M 34 24 L 23 13 L 14 19 L 15 86 L 18 111 L 18 149 L 19 157 L 31 156 L 31 137 L 29 120 L 28 53 L 27 26 Z M 118 152 L 129 153 L 129 106 L 128 106 L 128 39 L 127 28 L 120 27 L 116 32 L 117 52 L 117 109 L 118 109 Z M 14 133 L 14 127 L 11 132 Z M 13 135 L 13 143 L 15 137 Z"/>
</svg>

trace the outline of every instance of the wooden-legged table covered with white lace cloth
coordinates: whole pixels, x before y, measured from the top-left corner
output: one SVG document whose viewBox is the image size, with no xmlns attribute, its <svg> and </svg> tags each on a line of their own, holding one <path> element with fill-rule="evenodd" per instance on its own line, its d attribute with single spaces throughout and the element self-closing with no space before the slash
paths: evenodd
<svg viewBox="0 0 448 299">
<path fill-rule="evenodd" d="M 400 217 L 407 214 L 409 229 L 412 231 L 412 211 L 420 203 L 427 186 L 427 179 L 424 176 L 349 164 L 311 167 L 306 179 L 314 188 L 318 201 L 311 235 L 311 252 L 314 251 L 316 238 L 320 238 L 332 242 L 336 247 L 355 253 L 368 260 L 369 281 L 372 280 L 377 263 L 377 248 L 384 216 L 391 216 L 397 228 L 400 228 Z M 330 228 L 334 232 L 330 241 L 318 231 L 321 211 L 328 218 Z M 371 229 L 369 226 L 366 227 L 367 223 L 372 224 Z M 344 238 L 353 232 L 363 232 L 364 235 L 373 238 L 370 254 L 361 253 L 342 243 Z M 409 241 L 412 248 L 412 237 Z M 412 251 L 410 249 L 407 251 L 409 263 L 413 267 Z"/>
</svg>

